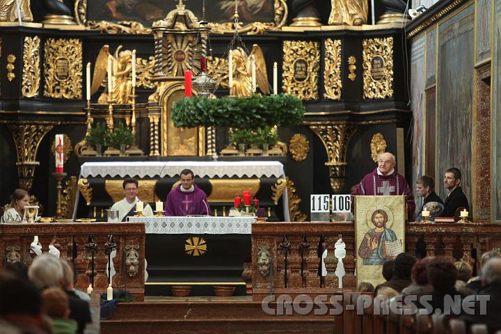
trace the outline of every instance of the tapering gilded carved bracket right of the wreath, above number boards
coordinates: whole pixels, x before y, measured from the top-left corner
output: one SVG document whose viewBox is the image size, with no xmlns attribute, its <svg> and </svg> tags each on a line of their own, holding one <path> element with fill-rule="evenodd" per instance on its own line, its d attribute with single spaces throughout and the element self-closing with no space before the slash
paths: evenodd
<svg viewBox="0 0 501 334">
<path fill-rule="evenodd" d="M 344 187 L 344 173 L 347 166 L 346 154 L 351 136 L 356 127 L 350 123 L 333 125 L 310 125 L 327 151 L 328 161 L 325 163 L 331 174 L 331 188 L 340 193 Z"/>
</svg>

